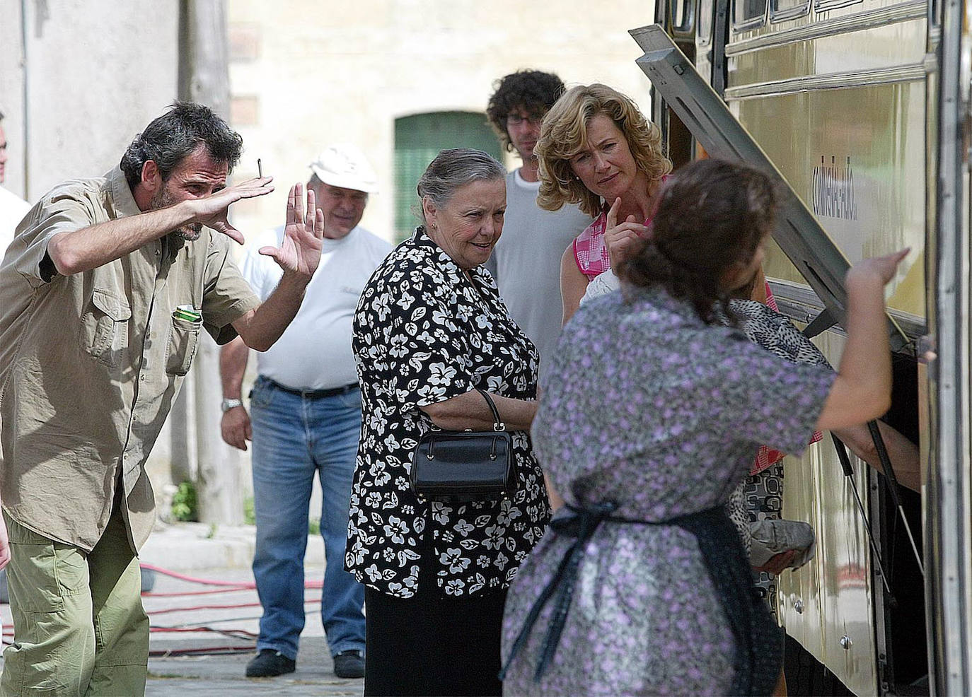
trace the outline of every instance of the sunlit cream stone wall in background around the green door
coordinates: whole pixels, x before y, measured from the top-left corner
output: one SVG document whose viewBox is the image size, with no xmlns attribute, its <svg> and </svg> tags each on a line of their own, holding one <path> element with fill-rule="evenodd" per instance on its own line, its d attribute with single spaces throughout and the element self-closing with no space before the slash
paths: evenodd
<svg viewBox="0 0 972 697">
<path fill-rule="evenodd" d="M 311 155 L 334 141 L 364 149 L 378 172 L 364 225 L 390 238 L 394 222 L 395 119 L 439 111 L 483 112 L 493 82 L 521 68 L 565 83 L 603 82 L 649 108 L 642 51 L 627 30 L 651 23 L 650 0 L 228 0 L 230 88 L 256 103 L 234 122 L 246 144 L 238 176 L 264 172 L 277 190 L 242 205 L 247 234 L 283 222 L 288 187 L 307 179 Z M 242 49 L 241 49 L 242 47 Z"/>
</svg>

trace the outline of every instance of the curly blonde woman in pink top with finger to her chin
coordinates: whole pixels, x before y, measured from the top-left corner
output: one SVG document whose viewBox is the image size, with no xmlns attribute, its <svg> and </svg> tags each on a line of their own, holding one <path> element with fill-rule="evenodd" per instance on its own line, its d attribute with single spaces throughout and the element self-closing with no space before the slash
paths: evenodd
<svg viewBox="0 0 972 697">
<path fill-rule="evenodd" d="M 579 204 L 595 217 L 561 259 L 566 324 L 587 284 L 647 233 L 672 163 L 658 127 L 629 97 L 598 83 L 573 87 L 557 100 L 543 118 L 535 151 L 538 205 L 557 211 Z"/>
</svg>

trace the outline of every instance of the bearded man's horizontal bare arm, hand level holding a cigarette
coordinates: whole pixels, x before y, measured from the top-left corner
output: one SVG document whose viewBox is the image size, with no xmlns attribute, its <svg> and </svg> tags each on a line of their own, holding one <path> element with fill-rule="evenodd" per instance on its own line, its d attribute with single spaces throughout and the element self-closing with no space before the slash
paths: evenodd
<svg viewBox="0 0 972 697">
<path fill-rule="evenodd" d="M 243 235 L 226 220 L 226 209 L 243 198 L 273 190 L 271 177 L 230 186 L 173 206 L 59 232 L 48 243 L 48 254 L 61 276 L 80 274 L 119 259 L 182 225 L 200 222 L 242 244 Z"/>
</svg>

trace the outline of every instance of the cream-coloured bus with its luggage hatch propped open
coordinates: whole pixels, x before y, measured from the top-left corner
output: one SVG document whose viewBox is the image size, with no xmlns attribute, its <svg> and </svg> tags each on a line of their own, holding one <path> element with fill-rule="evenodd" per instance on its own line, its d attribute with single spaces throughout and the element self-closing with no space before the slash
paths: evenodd
<svg viewBox="0 0 972 697">
<path fill-rule="evenodd" d="M 766 275 L 833 364 L 849 265 L 912 249 L 885 419 L 920 446 L 921 493 L 825 438 L 787 458 L 781 496 L 817 535 L 779 580 L 788 642 L 859 695 L 972 694 L 970 19 L 945 0 L 658 0 L 631 32 L 676 166 L 779 175 Z"/>
</svg>

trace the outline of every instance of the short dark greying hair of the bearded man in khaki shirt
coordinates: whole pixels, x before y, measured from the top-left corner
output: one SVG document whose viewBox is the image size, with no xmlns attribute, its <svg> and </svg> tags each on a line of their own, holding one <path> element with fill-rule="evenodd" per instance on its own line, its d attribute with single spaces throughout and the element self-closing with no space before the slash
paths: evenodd
<svg viewBox="0 0 972 697">
<path fill-rule="evenodd" d="M 213 160 L 226 162 L 230 172 L 243 153 L 243 139 L 209 107 L 195 102 L 174 102 L 169 111 L 135 136 L 121 155 L 121 171 L 128 186 L 134 188 L 142 181 L 145 163 L 153 160 L 165 181 L 200 144 L 205 144 Z"/>
</svg>

